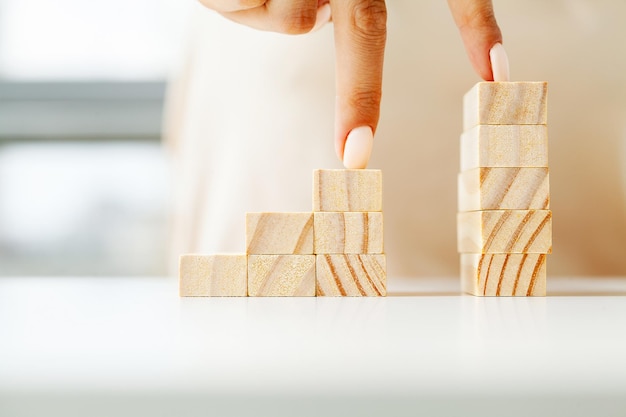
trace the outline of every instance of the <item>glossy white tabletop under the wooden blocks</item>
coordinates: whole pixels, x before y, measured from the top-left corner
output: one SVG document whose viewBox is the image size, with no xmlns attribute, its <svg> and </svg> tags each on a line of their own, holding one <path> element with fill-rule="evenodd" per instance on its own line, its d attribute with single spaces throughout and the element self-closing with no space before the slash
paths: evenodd
<svg viewBox="0 0 626 417">
<path fill-rule="evenodd" d="M 626 415 L 626 277 L 545 298 L 389 281 L 181 299 L 165 278 L 1 278 L 0 415 Z"/>
</svg>

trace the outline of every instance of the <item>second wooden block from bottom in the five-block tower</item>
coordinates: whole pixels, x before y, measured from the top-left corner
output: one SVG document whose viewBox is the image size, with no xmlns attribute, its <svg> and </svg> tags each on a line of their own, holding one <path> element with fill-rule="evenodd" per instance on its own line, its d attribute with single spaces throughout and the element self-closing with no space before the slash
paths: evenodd
<svg viewBox="0 0 626 417">
<path fill-rule="evenodd" d="M 457 214 L 461 253 L 551 253 L 550 210 L 486 210 Z"/>
</svg>

